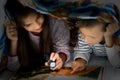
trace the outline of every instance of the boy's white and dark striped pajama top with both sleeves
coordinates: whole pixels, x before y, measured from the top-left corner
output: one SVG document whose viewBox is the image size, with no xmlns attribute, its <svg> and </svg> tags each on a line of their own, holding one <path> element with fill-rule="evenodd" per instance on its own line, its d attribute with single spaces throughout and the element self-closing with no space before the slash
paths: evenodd
<svg viewBox="0 0 120 80">
<path fill-rule="evenodd" d="M 74 59 L 82 58 L 88 62 L 91 54 L 95 56 L 107 56 L 113 66 L 120 66 L 120 57 L 118 56 L 118 50 L 115 46 L 111 48 L 108 48 L 103 44 L 89 46 L 79 34 L 78 41 L 74 48 Z"/>
</svg>

